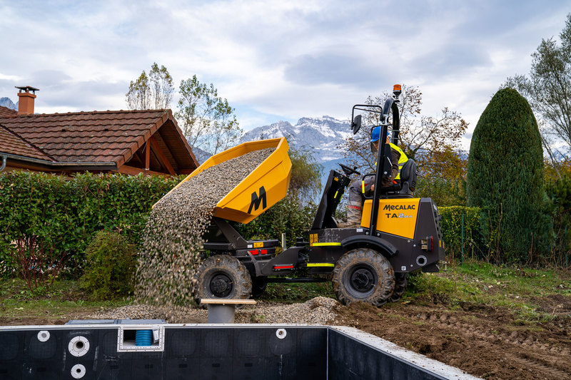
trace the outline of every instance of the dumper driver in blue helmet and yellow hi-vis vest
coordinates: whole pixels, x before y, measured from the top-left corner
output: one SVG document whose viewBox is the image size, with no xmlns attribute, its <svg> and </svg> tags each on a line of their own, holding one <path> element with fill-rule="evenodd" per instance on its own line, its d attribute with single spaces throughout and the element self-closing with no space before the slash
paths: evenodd
<svg viewBox="0 0 571 380">
<path fill-rule="evenodd" d="M 370 134 L 371 151 L 375 153 L 375 157 L 379 149 L 380 126 L 373 128 Z M 408 157 L 403 150 L 397 145 L 390 143 L 390 132 L 387 132 L 386 143 L 390 145 L 390 163 L 391 170 L 389 175 L 383 176 L 381 185 L 383 188 L 400 182 L 400 170 L 408 161 Z M 377 165 L 375 163 L 375 165 Z M 365 178 L 365 181 L 355 180 L 349 186 L 349 200 L 347 202 L 347 223 L 345 227 L 359 227 L 361 224 L 361 215 L 363 214 L 363 197 L 371 196 L 371 192 L 375 190 L 375 175 Z M 397 182 L 398 181 L 398 182 Z"/>
</svg>

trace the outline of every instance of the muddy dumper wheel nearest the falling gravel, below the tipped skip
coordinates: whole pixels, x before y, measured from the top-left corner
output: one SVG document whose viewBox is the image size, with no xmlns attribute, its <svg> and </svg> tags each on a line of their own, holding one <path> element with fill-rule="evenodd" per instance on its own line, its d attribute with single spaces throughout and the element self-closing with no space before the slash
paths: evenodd
<svg viewBox="0 0 571 380">
<path fill-rule="evenodd" d="M 198 306 L 203 298 L 249 299 L 252 292 L 250 272 L 244 265 L 229 255 L 208 257 L 196 270 L 193 277 L 193 297 Z"/>
</svg>

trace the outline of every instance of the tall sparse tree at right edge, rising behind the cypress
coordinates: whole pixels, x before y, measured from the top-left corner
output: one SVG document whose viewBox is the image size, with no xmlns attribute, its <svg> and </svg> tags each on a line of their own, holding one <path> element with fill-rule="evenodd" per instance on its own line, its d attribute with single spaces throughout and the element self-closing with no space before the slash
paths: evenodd
<svg viewBox="0 0 571 380">
<path fill-rule="evenodd" d="M 554 163 L 571 153 L 571 14 L 559 36 L 560 46 L 553 38 L 542 39 L 529 76 L 515 75 L 502 84 L 517 89 L 541 116 L 542 143 Z"/>
</svg>

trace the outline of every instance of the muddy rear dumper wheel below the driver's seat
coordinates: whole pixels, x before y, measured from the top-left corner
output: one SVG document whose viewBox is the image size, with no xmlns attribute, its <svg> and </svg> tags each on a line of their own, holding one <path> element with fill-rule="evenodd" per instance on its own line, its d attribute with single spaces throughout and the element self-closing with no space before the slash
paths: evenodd
<svg viewBox="0 0 571 380">
<path fill-rule="evenodd" d="M 337 299 L 344 305 L 367 302 L 383 306 L 395 289 L 395 272 L 379 252 L 357 248 L 340 257 L 332 282 Z"/>
</svg>

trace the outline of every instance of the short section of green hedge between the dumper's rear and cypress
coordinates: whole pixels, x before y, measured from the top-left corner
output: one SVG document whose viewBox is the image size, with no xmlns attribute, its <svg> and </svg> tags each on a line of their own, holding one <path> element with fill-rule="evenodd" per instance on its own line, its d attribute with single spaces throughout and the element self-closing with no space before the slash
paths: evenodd
<svg viewBox="0 0 571 380">
<path fill-rule="evenodd" d="M 438 207 L 447 260 L 460 260 L 464 231 L 464 257 L 481 257 L 487 252 L 482 235 L 482 210 L 479 207 Z"/>
</svg>

